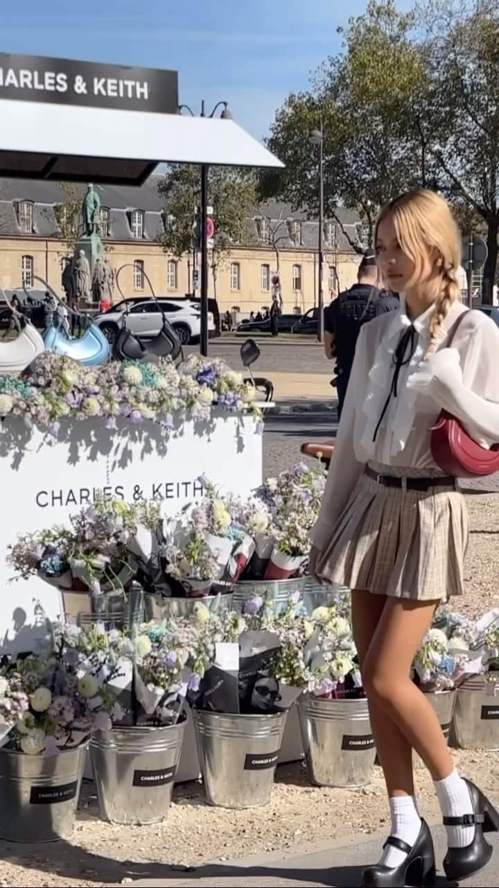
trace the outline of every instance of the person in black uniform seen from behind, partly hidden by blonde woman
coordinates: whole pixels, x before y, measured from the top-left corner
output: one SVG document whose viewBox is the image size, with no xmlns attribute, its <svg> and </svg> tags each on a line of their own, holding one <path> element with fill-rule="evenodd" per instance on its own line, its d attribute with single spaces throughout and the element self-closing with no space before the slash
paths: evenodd
<svg viewBox="0 0 499 888">
<path fill-rule="evenodd" d="M 368 252 L 359 266 L 358 282 L 340 293 L 324 312 L 324 349 L 337 360 L 338 420 L 345 401 L 360 328 L 379 314 L 399 308 L 399 297 L 380 289 L 374 252 Z"/>
</svg>

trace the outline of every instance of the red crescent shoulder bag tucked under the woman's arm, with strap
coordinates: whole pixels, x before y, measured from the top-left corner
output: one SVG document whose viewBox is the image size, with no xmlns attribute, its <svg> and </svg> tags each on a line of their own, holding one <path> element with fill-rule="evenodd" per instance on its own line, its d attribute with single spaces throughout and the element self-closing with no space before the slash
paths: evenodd
<svg viewBox="0 0 499 888">
<path fill-rule="evenodd" d="M 448 348 L 466 314 L 467 312 L 463 312 L 455 321 L 448 339 Z M 432 457 L 442 472 L 454 478 L 476 478 L 499 472 L 499 444 L 495 444 L 490 450 L 481 447 L 463 429 L 460 421 L 445 410 L 442 410 L 437 424 L 432 427 Z"/>
</svg>

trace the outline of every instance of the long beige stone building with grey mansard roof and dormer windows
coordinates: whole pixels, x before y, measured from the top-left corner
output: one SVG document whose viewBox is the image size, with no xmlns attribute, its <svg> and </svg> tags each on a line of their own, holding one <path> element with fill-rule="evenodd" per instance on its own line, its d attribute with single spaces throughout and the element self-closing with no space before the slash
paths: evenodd
<svg viewBox="0 0 499 888">
<path fill-rule="evenodd" d="M 124 296 L 147 296 L 144 273 L 156 296 L 185 296 L 193 291 L 193 256 L 177 260 L 167 255 L 162 234 L 162 201 L 156 180 L 139 188 L 95 186 L 101 204 L 101 234 L 106 258 L 120 274 Z M 82 189 L 83 194 L 83 189 Z M 4 289 L 40 289 L 34 275 L 62 295 L 61 274 L 71 245 L 59 230 L 55 209 L 67 201 L 56 183 L 23 179 L 0 180 L 0 284 Z M 362 239 L 358 220 L 344 211 L 346 231 L 353 242 Z M 282 309 L 302 313 L 317 302 L 318 222 L 293 213 L 283 204 L 269 203 L 249 213 L 249 243 L 234 244 L 218 269 L 216 296 L 220 312 L 236 308 L 242 316 L 270 305 L 273 274 L 279 271 Z M 324 301 L 352 284 L 359 256 L 341 226 L 324 225 Z M 214 281 L 210 275 L 210 296 Z M 115 291 L 115 301 L 120 298 Z"/>
</svg>

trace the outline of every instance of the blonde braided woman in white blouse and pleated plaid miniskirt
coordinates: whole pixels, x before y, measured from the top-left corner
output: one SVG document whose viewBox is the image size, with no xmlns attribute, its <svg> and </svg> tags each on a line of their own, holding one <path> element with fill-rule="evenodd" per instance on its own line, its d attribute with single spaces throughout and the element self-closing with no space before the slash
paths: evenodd
<svg viewBox="0 0 499 888">
<path fill-rule="evenodd" d="M 463 592 L 468 520 L 454 478 L 432 461 L 431 428 L 445 408 L 483 446 L 499 441 L 499 330 L 457 299 L 460 237 L 448 204 L 415 191 L 376 226 L 384 281 L 400 311 L 360 332 L 321 515 L 313 573 L 352 589 L 352 624 L 392 833 L 366 886 L 431 885 L 432 836 L 414 796 L 412 749 L 435 784 L 448 832 L 446 875 L 460 881 L 492 855 L 484 833 L 499 814 L 454 769 L 438 719 L 410 679 L 440 600 Z"/>
</svg>

